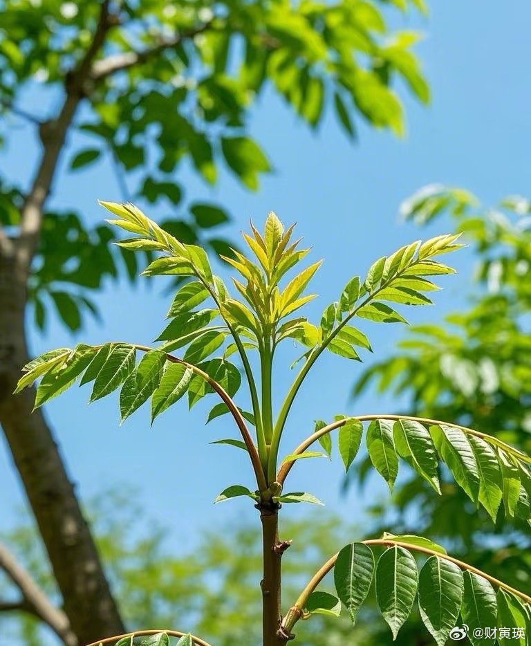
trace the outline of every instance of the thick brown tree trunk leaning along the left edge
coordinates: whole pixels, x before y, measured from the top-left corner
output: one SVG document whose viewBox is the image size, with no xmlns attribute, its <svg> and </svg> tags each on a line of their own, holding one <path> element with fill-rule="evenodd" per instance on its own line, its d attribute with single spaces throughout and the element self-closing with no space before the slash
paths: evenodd
<svg viewBox="0 0 531 646">
<path fill-rule="evenodd" d="M 0 425 L 24 484 L 64 611 L 80 644 L 124 632 L 100 558 L 34 391 L 12 396 L 28 362 L 24 333 L 26 272 L 0 255 Z"/>
</svg>

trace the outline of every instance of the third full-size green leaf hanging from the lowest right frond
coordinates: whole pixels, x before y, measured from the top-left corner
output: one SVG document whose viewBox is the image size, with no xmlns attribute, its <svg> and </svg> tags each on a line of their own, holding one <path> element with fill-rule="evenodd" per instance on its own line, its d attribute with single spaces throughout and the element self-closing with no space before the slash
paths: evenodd
<svg viewBox="0 0 531 646">
<path fill-rule="evenodd" d="M 463 573 L 438 556 L 425 562 L 418 581 L 418 605 L 424 625 L 438 646 L 445 646 L 463 600 Z"/>
</svg>

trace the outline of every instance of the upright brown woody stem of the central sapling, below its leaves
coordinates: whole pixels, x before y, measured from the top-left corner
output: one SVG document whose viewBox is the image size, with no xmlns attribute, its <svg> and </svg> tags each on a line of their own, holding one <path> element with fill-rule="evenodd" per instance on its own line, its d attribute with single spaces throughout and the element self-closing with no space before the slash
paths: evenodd
<svg viewBox="0 0 531 646">
<path fill-rule="evenodd" d="M 281 646 L 286 640 L 278 636 L 281 623 L 281 558 L 279 548 L 279 515 L 277 510 L 262 510 L 263 537 L 262 635 L 263 646 Z"/>
</svg>

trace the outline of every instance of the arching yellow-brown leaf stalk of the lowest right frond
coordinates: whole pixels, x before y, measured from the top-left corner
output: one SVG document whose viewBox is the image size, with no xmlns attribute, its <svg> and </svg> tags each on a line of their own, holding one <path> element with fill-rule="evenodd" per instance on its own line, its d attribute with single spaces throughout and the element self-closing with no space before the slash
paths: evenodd
<svg viewBox="0 0 531 646">
<path fill-rule="evenodd" d="M 469 565 L 464 561 L 460 561 L 454 558 L 453 556 L 449 556 L 448 554 L 437 552 L 428 547 L 414 545 L 405 541 L 395 541 L 390 538 L 374 538 L 374 539 L 367 539 L 361 542 L 365 545 L 381 545 L 384 547 L 397 546 L 397 547 L 402 547 L 404 549 L 407 549 L 408 551 L 416 551 L 422 554 L 426 554 L 428 556 L 436 556 L 445 561 L 454 563 L 462 570 L 467 570 L 469 572 L 477 574 L 478 576 L 483 577 L 490 583 L 494 584 L 496 588 L 501 588 L 507 592 L 510 592 L 512 595 L 521 598 L 523 602 L 531 604 L 531 597 L 528 596 L 527 594 L 519 590 L 516 590 L 510 585 L 503 583 L 503 581 L 500 581 L 499 579 L 494 578 L 490 574 L 487 574 L 481 570 L 478 570 L 476 567 Z M 286 613 L 286 616 L 282 620 L 282 627 L 283 627 L 283 630 L 286 632 L 286 634 L 290 634 L 293 626 L 295 626 L 297 621 L 303 616 L 304 607 L 306 606 L 308 597 L 317 588 L 319 583 L 322 582 L 322 580 L 328 574 L 328 572 L 330 572 L 333 569 L 333 566 L 335 566 L 335 562 L 337 560 L 338 554 L 339 552 L 337 554 L 334 554 L 332 557 L 330 557 L 328 561 L 326 561 L 326 563 L 324 563 L 319 568 L 319 570 L 317 570 L 317 572 L 310 579 L 310 581 L 308 582 L 304 590 L 300 593 L 299 598 L 297 598 L 297 601 L 295 602 L 295 604 L 292 605 L 292 607 L 290 607 L 290 609 Z"/>
</svg>

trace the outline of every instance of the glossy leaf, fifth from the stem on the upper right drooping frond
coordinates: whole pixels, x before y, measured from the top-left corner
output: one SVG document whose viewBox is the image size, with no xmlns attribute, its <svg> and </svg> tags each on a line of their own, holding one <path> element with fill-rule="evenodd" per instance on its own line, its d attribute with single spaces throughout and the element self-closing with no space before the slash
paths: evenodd
<svg viewBox="0 0 531 646">
<path fill-rule="evenodd" d="M 465 433 L 458 428 L 442 424 L 430 426 L 429 432 L 438 454 L 447 464 L 460 488 L 476 502 L 479 492 L 478 465 Z"/>
</svg>

